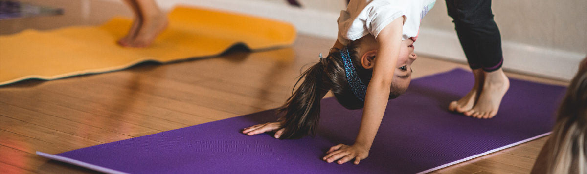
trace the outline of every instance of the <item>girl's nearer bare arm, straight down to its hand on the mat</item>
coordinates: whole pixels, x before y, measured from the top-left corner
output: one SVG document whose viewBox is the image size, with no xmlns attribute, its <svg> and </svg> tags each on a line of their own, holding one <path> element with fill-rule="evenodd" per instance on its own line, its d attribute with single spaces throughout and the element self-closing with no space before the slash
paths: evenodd
<svg viewBox="0 0 587 174">
<path fill-rule="evenodd" d="M 379 129 L 383 113 L 389 100 L 390 86 L 392 85 L 393 72 L 396 69 L 396 61 L 399 56 L 400 44 L 402 42 L 403 18 L 397 18 L 387 25 L 377 36 L 377 55 L 373 76 L 367 86 L 365 96 L 365 107 L 361 120 L 359 134 L 355 144 L 348 146 L 339 144 L 331 147 L 323 159 L 338 163 L 345 163 L 355 158 L 355 164 L 361 159 L 367 158 L 369 149 Z"/>
</svg>

